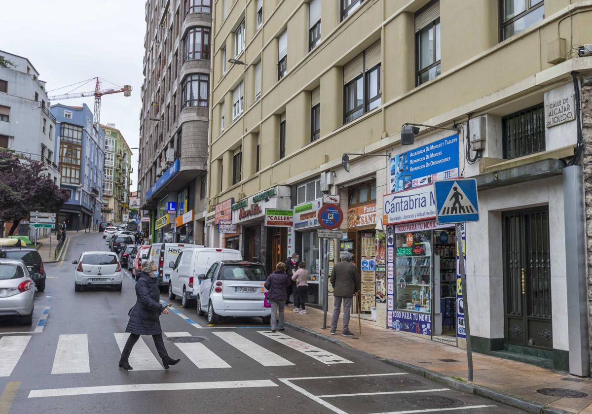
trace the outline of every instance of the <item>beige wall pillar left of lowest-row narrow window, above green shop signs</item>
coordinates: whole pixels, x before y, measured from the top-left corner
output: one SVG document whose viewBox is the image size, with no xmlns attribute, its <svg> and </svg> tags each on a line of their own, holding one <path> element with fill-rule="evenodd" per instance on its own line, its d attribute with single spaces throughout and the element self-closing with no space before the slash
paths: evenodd
<svg viewBox="0 0 592 414">
<path fill-rule="evenodd" d="M 309 90 L 298 93 L 286 105 L 286 137 L 286 154 L 292 154 L 310 143 Z"/>
</svg>

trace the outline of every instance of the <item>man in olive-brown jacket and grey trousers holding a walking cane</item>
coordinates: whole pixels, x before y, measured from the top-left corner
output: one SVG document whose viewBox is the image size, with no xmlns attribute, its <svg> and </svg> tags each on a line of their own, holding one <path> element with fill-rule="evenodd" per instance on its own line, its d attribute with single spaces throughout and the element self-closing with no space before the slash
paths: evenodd
<svg viewBox="0 0 592 414">
<path fill-rule="evenodd" d="M 333 319 L 331 321 L 331 335 L 335 335 L 337 322 L 339 321 L 339 312 L 343 302 L 343 331 L 342 337 L 353 337 L 349 331 L 349 316 L 352 310 L 352 296 L 358 295 L 360 290 L 360 275 L 356 267 L 350 263 L 352 254 L 343 251 L 340 255 L 341 261 L 333 267 L 331 273 L 331 286 L 333 286 L 334 308 Z"/>
</svg>

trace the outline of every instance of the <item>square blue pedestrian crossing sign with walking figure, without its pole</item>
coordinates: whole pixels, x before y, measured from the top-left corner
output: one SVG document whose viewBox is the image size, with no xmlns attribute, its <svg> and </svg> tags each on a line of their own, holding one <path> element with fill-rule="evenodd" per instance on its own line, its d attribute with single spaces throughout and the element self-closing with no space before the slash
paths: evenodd
<svg viewBox="0 0 592 414">
<path fill-rule="evenodd" d="M 438 224 L 479 221 L 475 179 L 436 181 L 434 190 Z"/>
</svg>

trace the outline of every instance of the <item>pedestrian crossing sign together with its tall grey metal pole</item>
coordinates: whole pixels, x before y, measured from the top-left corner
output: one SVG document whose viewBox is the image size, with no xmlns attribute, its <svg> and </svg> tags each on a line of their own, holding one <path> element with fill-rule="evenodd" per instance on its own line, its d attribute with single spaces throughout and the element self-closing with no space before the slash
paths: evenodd
<svg viewBox="0 0 592 414">
<path fill-rule="evenodd" d="M 436 193 L 437 223 L 454 223 L 456 225 L 456 251 L 460 257 L 459 273 L 461 274 L 462 299 L 465 305 L 466 362 L 468 365 L 468 380 L 472 382 L 473 355 L 471 328 L 469 325 L 469 301 L 466 297 L 465 247 L 462 242 L 462 223 L 479 221 L 477 180 L 458 179 L 437 181 L 434 183 L 434 190 Z"/>
</svg>

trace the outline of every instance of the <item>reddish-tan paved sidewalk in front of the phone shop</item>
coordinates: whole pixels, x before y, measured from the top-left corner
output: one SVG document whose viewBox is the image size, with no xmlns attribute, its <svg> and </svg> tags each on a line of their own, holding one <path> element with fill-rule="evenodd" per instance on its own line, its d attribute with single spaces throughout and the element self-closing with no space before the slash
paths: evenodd
<svg viewBox="0 0 592 414">
<path fill-rule="evenodd" d="M 490 355 L 473 352 L 474 381 L 467 383 L 466 351 L 430 339 L 420 338 L 391 329 L 380 328 L 362 320 L 359 335 L 357 315 L 352 314 L 349 329 L 356 337 L 342 337 L 342 318 L 337 335 L 329 335 L 332 312 L 327 312 L 327 329 L 323 330 L 323 311 L 308 308 L 307 314 L 286 308 L 288 326 L 323 337 L 345 347 L 352 347 L 385 358 L 392 365 L 414 373 L 446 382 L 449 386 L 481 394 L 499 402 L 519 406 L 535 413 L 592 413 L 592 379 L 583 379 L 567 373 L 558 373 Z M 443 360 L 454 360 L 445 362 Z M 541 388 L 578 390 L 588 394 L 585 398 L 554 397 L 539 394 Z M 553 407 L 555 409 L 546 409 Z M 559 409 L 559 410 L 556 410 Z"/>
</svg>

